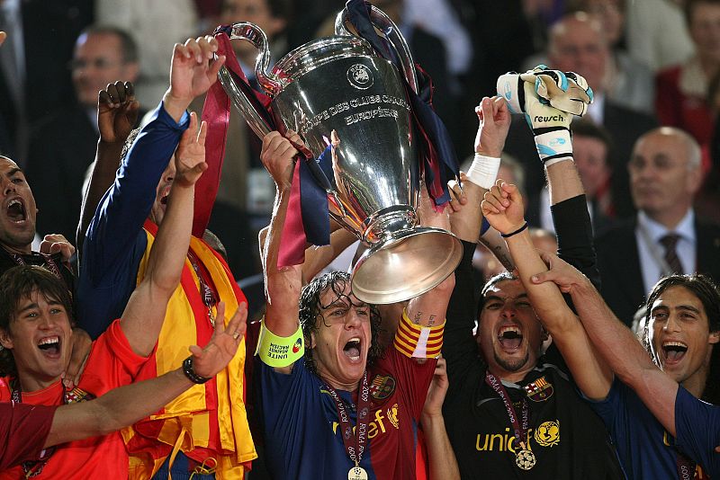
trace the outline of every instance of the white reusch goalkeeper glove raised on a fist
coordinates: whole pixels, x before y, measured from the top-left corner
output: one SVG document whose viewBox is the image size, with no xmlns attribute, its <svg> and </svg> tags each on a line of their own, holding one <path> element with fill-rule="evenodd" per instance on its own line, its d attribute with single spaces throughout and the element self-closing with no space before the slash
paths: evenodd
<svg viewBox="0 0 720 480">
<path fill-rule="evenodd" d="M 538 66 L 524 74 L 500 76 L 498 94 L 506 99 L 510 111 L 525 113 L 545 166 L 572 160 L 572 115 L 585 114 L 593 100 L 585 78 Z"/>
</svg>

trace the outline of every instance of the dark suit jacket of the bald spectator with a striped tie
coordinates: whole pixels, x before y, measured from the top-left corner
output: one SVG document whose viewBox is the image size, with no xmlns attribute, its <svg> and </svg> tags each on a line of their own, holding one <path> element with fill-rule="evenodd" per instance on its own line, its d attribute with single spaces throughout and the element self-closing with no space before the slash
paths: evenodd
<svg viewBox="0 0 720 480">
<path fill-rule="evenodd" d="M 635 218 L 609 228 L 595 239 L 602 279 L 601 293 L 608 306 L 626 324 L 644 303 L 643 273 L 635 239 Z M 695 221 L 698 272 L 720 281 L 720 225 Z"/>
</svg>

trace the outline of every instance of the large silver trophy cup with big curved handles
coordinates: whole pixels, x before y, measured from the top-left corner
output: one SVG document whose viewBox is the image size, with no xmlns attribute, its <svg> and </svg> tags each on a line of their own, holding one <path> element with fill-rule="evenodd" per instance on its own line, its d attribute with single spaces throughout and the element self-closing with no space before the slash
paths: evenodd
<svg viewBox="0 0 720 480">
<path fill-rule="evenodd" d="M 445 280 L 463 247 L 446 230 L 418 226 L 419 189 L 425 186 L 420 185 L 417 133 L 401 74 L 347 31 L 345 14 L 338 13 L 335 36 L 294 49 L 270 72 L 266 34 L 257 25 L 233 24 L 230 39 L 250 41 L 260 51 L 257 81 L 273 99 L 281 133 L 299 132 L 313 158 L 327 147 L 330 132 L 338 133 L 331 178 L 325 180 L 313 161 L 311 171 L 328 192 L 330 215 L 368 247 L 353 270 L 353 293 L 368 303 L 388 304 Z M 374 7 L 371 19 L 391 41 L 403 75 L 416 89 L 414 64 L 397 27 Z M 265 120 L 225 67 L 219 78 L 248 125 L 265 136 Z"/>
</svg>

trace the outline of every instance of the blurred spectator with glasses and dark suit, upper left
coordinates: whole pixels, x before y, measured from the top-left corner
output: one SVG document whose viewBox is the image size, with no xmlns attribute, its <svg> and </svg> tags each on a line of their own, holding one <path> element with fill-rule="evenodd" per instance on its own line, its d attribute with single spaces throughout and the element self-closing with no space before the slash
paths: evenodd
<svg viewBox="0 0 720 480">
<path fill-rule="evenodd" d="M 135 82 L 138 49 L 114 27 L 88 27 L 77 38 L 72 69 L 76 102 L 51 113 L 32 129 L 28 179 L 42 211 L 38 233 L 74 238 L 87 166 L 98 140 L 98 92 L 117 80 Z"/>
</svg>

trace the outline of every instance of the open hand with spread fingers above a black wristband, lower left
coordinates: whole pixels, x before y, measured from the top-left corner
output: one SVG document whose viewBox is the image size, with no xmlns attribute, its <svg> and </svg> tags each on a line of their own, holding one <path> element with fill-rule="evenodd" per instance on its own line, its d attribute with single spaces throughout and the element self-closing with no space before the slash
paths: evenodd
<svg viewBox="0 0 720 480">
<path fill-rule="evenodd" d="M 211 378 L 227 367 L 230 360 L 235 357 L 240 342 L 245 338 L 247 329 L 247 303 L 238 305 L 235 315 L 225 325 L 225 303 L 218 304 L 218 316 L 215 318 L 215 333 L 211 341 L 200 348 L 197 345 L 190 347 L 193 353 L 193 369 L 195 373 L 204 378 Z"/>
</svg>

